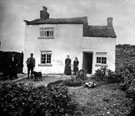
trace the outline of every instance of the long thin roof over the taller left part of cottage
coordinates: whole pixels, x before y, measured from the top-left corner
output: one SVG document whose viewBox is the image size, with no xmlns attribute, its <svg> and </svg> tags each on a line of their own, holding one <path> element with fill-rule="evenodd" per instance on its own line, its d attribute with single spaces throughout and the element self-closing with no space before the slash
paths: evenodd
<svg viewBox="0 0 135 116">
<path fill-rule="evenodd" d="M 84 24 L 88 23 L 87 17 L 78 18 L 49 18 L 46 20 L 36 19 L 33 21 L 24 20 L 27 25 L 39 25 L 39 24 Z"/>
</svg>

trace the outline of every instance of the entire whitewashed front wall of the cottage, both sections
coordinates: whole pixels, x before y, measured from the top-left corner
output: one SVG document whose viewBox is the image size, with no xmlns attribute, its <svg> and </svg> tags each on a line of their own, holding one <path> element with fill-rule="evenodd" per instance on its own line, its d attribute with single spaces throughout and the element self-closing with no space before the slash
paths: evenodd
<svg viewBox="0 0 135 116">
<path fill-rule="evenodd" d="M 40 27 L 54 27 L 54 39 L 39 39 Z M 82 24 L 44 24 L 26 25 L 24 48 L 24 72 L 27 72 L 26 59 L 30 53 L 36 58 L 35 70 L 42 73 L 63 73 L 65 58 L 70 55 L 79 59 L 79 69 L 82 68 L 83 51 L 93 52 L 92 73 L 96 66 L 96 52 L 107 52 L 107 65 L 115 70 L 115 38 L 82 37 Z M 39 66 L 41 50 L 52 51 L 52 66 Z"/>
</svg>

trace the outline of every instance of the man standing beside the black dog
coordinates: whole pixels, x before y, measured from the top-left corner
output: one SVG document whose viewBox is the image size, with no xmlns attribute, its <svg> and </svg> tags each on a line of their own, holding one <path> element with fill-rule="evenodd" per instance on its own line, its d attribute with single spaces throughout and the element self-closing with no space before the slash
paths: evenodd
<svg viewBox="0 0 135 116">
<path fill-rule="evenodd" d="M 28 79 L 29 79 L 29 74 L 31 72 L 31 78 L 32 78 L 33 70 L 35 67 L 35 58 L 33 57 L 33 53 L 30 54 L 30 57 L 27 59 L 26 63 L 28 68 Z"/>
</svg>

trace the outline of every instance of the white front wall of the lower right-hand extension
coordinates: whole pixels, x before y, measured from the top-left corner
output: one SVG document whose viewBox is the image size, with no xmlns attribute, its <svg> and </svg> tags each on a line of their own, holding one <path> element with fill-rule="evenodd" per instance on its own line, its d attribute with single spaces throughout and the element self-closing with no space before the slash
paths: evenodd
<svg viewBox="0 0 135 116">
<path fill-rule="evenodd" d="M 96 52 L 107 52 L 107 68 L 115 70 L 115 38 L 84 37 L 83 40 L 83 51 L 93 52 L 92 73 L 100 68 L 96 65 Z"/>
</svg>

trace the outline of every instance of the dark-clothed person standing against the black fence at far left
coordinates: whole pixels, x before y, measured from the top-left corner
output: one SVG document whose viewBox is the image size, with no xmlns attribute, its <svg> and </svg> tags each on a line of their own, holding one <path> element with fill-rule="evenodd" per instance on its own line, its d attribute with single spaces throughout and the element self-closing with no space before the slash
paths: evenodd
<svg viewBox="0 0 135 116">
<path fill-rule="evenodd" d="M 9 71 L 10 71 L 10 80 L 13 79 L 13 77 L 17 77 L 17 58 L 15 54 L 12 54 L 9 59 Z"/>
</svg>

